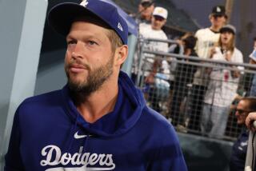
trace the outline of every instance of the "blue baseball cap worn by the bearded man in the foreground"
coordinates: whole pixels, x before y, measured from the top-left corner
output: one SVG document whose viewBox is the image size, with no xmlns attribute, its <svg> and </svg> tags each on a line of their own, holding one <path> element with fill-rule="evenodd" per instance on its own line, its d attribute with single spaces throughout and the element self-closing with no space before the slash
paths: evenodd
<svg viewBox="0 0 256 171">
<path fill-rule="evenodd" d="M 76 18 L 90 15 L 97 16 L 102 22 L 110 26 L 121 38 L 122 43 L 127 45 L 128 26 L 126 21 L 118 14 L 117 8 L 108 2 L 85 0 L 80 4 L 74 2 L 60 3 L 50 10 L 48 21 L 54 30 L 66 36 Z"/>
</svg>

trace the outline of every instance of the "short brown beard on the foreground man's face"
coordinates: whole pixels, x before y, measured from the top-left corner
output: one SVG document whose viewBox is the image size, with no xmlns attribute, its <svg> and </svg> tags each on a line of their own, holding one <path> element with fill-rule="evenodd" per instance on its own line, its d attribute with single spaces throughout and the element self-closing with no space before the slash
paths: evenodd
<svg viewBox="0 0 256 171">
<path fill-rule="evenodd" d="M 70 89 L 71 96 L 74 97 L 76 103 L 85 101 L 91 93 L 94 93 L 100 89 L 104 82 L 106 82 L 113 74 L 113 62 L 114 56 L 104 66 L 99 66 L 94 70 L 88 70 L 87 81 L 85 82 L 73 82 L 70 79 L 68 73 L 69 66 L 66 66 L 66 76 L 68 78 L 68 86 Z M 86 68 L 89 69 L 87 66 Z"/>
</svg>

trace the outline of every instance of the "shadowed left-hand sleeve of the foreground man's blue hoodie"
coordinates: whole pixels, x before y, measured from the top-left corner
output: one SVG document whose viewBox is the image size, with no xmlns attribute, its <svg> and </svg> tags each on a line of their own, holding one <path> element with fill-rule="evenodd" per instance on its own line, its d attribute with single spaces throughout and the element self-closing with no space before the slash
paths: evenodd
<svg viewBox="0 0 256 171">
<path fill-rule="evenodd" d="M 21 133 L 19 129 L 18 109 L 14 115 L 14 123 L 10 134 L 9 148 L 6 153 L 4 171 L 23 171 L 20 153 Z"/>
</svg>

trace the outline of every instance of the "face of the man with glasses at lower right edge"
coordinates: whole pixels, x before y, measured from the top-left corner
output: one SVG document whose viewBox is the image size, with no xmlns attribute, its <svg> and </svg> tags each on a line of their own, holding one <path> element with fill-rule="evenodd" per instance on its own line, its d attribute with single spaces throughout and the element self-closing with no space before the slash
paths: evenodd
<svg viewBox="0 0 256 171">
<path fill-rule="evenodd" d="M 243 101 L 243 100 L 239 101 L 236 112 L 235 112 L 235 116 L 237 117 L 237 120 L 238 120 L 237 121 L 238 125 L 242 125 L 245 123 L 246 117 L 249 113 L 250 111 L 248 111 L 246 101 Z"/>
</svg>

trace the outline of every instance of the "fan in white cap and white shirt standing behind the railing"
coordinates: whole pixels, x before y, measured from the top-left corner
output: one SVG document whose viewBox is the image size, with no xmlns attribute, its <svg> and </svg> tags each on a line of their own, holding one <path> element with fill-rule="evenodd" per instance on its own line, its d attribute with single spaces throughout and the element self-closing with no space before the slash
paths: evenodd
<svg viewBox="0 0 256 171">
<path fill-rule="evenodd" d="M 162 39 L 167 40 L 167 36 L 162 30 L 162 26 L 166 24 L 166 19 L 168 16 L 168 11 L 163 7 L 155 7 L 153 11 L 153 15 L 151 18 L 151 24 L 141 24 L 139 26 L 139 34 L 142 38 L 154 38 L 154 39 Z M 168 43 L 166 42 L 146 42 L 146 44 L 143 45 L 145 50 L 150 50 L 154 52 L 168 52 Z M 162 62 L 159 62 L 158 60 L 155 60 L 154 54 L 144 54 L 146 60 L 143 62 L 143 70 L 149 70 L 151 72 L 145 72 L 145 82 L 149 84 L 153 84 L 155 81 L 155 74 L 157 74 L 157 71 L 160 69 L 165 74 L 166 79 L 174 78 L 172 75 L 170 75 L 170 65 L 166 60 L 163 60 Z M 138 71 L 138 58 L 136 56 L 134 57 L 134 71 L 136 75 L 136 71 Z M 169 83 L 166 82 L 166 85 L 169 86 Z M 168 88 L 166 88 L 168 89 Z M 155 98 L 154 98 L 155 99 Z M 158 102 L 156 102 L 158 103 Z M 152 102 L 152 104 L 155 104 Z M 158 105 L 152 105 L 153 109 L 160 111 L 158 109 Z"/>
</svg>

